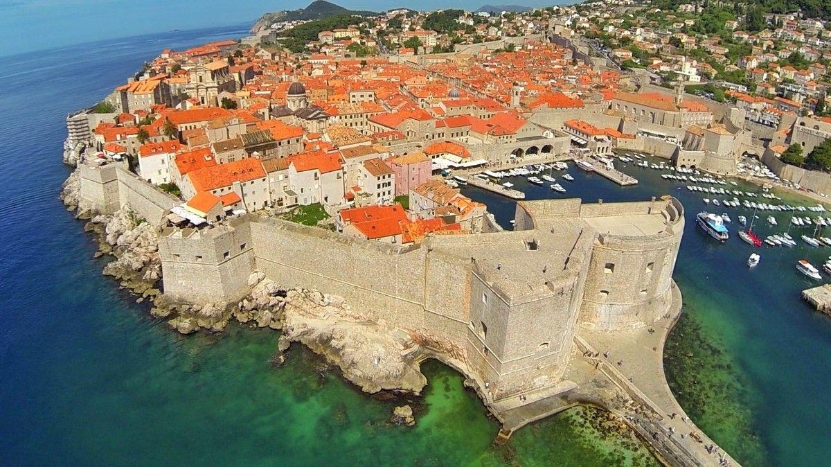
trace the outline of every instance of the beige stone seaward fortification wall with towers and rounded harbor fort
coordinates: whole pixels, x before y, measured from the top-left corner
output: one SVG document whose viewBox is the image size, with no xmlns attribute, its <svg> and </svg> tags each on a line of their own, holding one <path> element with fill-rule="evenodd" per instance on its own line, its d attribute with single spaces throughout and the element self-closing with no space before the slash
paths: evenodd
<svg viewBox="0 0 831 467">
<path fill-rule="evenodd" d="M 103 213 L 129 205 L 161 225 L 179 202 L 115 165 L 81 169 Z M 683 208 L 580 199 L 517 204 L 514 231 L 435 235 L 401 247 L 256 214 L 203 229 L 162 229 L 166 297 L 234 302 L 248 277 L 344 297 L 387 327 L 464 351 L 489 403 L 563 381 L 578 327 L 645 327 L 671 303 Z"/>
</svg>

